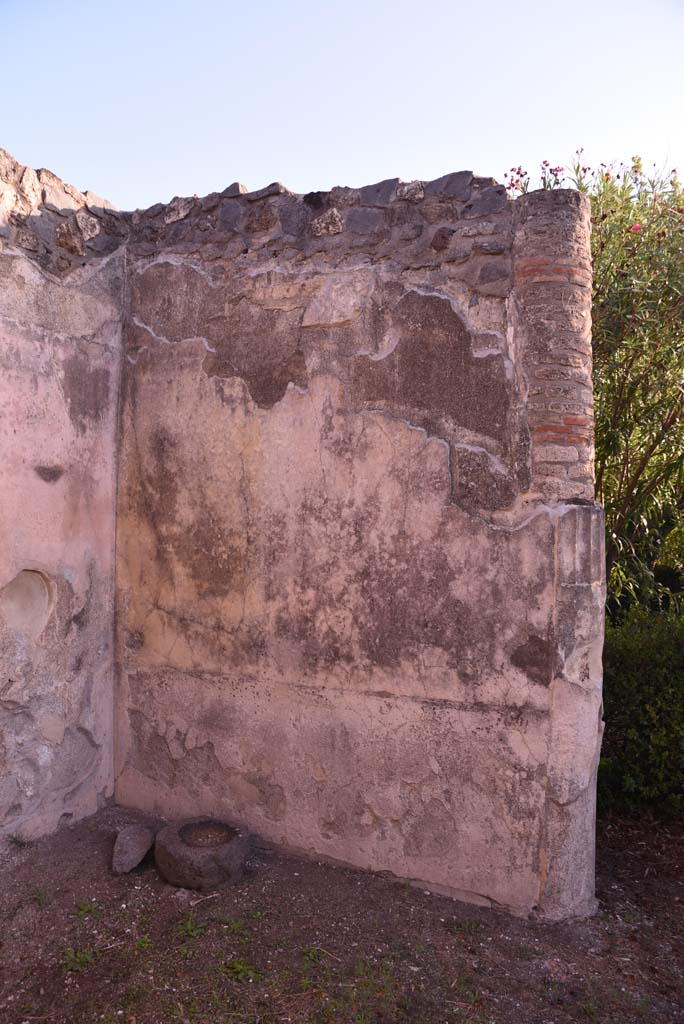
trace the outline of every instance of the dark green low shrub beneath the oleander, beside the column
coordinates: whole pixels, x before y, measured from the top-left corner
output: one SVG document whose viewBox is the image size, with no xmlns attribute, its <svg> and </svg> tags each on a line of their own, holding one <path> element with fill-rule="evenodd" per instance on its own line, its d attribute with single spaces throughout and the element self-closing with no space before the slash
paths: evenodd
<svg viewBox="0 0 684 1024">
<path fill-rule="evenodd" d="M 606 625 L 599 806 L 684 816 L 684 615 Z"/>
</svg>

